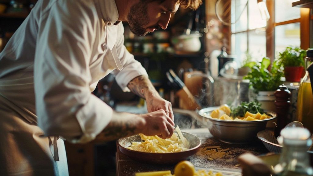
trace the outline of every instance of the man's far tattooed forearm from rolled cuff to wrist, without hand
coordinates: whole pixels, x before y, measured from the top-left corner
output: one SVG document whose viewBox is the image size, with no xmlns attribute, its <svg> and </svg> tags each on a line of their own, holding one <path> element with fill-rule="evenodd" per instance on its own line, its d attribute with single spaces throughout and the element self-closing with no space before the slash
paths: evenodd
<svg viewBox="0 0 313 176">
<path fill-rule="evenodd" d="M 150 97 L 158 95 L 151 81 L 145 75 L 137 76 L 128 83 L 127 87 L 133 93 L 145 99 L 148 96 Z"/>
</svg>

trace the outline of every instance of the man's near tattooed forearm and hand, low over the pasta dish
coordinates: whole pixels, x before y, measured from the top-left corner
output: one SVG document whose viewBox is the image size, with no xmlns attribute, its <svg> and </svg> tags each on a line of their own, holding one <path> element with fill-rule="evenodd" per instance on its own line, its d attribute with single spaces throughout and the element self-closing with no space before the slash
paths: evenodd
<svg viewBox="0 0 313 176">
<path fill-rule="evenodd" d="M 163 139 L 171 137 L 174 122 L 164 110 L 147 114 L 131 114 L 113 111 L 112 120 L 96 137 L 96 141 L 112 141 L 121 137 L 143 133 L 147 136 L 158 135 Z"/>
</svg>

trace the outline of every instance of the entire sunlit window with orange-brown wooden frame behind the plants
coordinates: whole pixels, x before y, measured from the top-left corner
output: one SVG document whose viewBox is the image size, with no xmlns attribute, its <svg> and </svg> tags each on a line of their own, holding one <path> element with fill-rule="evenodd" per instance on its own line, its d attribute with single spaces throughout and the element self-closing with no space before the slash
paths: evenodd
<svg viewBox="0 0 313 176">
<path fill-rule="evenodd" d="M 254 59 L 274 60 L 287 46 L 310 45 L 310 9 L 292 7 L 298 0 L 263 0 L 269 21 L 261 18 L 257 0 L 231 0 L 231 51 L 241 63 L 249 51 Z"/>
</svg>

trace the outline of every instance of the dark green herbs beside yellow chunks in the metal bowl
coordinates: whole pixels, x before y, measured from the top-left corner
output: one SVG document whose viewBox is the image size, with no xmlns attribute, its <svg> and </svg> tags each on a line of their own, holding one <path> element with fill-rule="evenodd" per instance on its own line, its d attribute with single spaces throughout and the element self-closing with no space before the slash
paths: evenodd
<svg viewBox="0 0 313 176">
<path fill-rule="evenodd" d="M 247 111 L 256 114 L 256 113 L 264 113 L 264 110 L 261 108 L 261 104 L 259 101 L 251 101 L 251 102 L 241 102 L 241 104 L 237 107 L 230 107 L 231 113 L 230 116 L 232 117 L 244 117 Z"/>
</svg>

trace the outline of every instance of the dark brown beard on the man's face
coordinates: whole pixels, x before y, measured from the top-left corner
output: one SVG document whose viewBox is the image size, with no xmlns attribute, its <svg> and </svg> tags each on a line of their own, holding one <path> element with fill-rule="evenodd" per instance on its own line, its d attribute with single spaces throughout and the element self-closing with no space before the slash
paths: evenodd
<svg viewBox="0 0 313 176">
<path fill-rule="evenodd" d="M 148 18 L 148 6 L 145 2 L 139 2 L 133 5 L 130 9 L 130 12 L 127 15 L 127 21 L 131 32 L 139 36 L 145 36 L 149 32 L 146 31 L 146 26 L 149 23 Z M 160 26 L 151 26 L 150 28 L 159 29 Z"/>
</svg>

